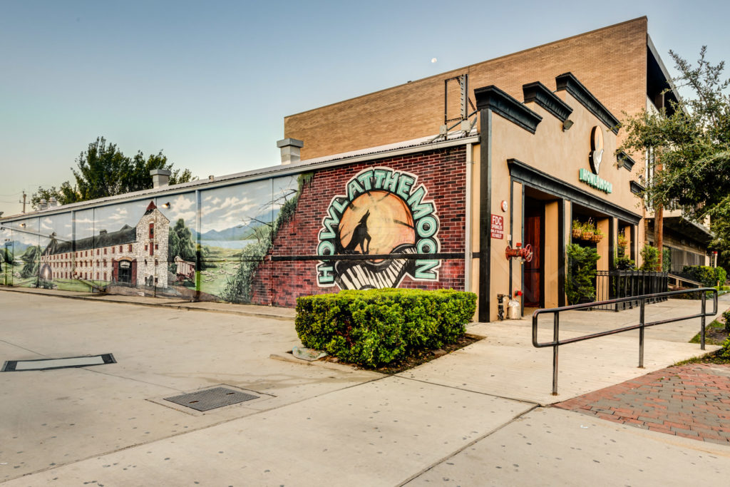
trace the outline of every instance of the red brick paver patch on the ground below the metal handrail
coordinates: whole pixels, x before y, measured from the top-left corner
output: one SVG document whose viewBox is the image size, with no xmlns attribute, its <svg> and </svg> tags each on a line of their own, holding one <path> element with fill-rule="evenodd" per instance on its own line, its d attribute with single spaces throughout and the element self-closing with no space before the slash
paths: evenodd
<svg viewBox="0 0 730 487">
<path fill-rule="evenodd" d="M 655 432 L 730 444 L 730 365 L 668 367 L 555 407 Z"/>
</svg>

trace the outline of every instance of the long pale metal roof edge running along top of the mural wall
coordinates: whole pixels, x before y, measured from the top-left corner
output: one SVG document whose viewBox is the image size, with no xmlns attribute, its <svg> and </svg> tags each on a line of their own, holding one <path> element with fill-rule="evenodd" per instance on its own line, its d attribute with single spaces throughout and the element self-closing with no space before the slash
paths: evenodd
<svg viewBox="0 0 730 487">
<path fill-rule="evenodd" d="M 445 140 L 434 141 L 435 135 L 429 137 L 420 137 L 419 139 L 397 142 L 395 144 L 380 145 L 377 147 L 368 147 L 362 150 L 353 150 L 347 153 L 334 154 L 332 156 L 307 159 L 296 164 L 279 164 L 277 166 L 269 166 L 261 169 L 253 169 L 247 172 L 237 172 L 232 175 L 215 177 L 213 180 L 196 180 L 190 183 L 181 183 L 172 186 L 163 186 L 161 188 L 151 188 L 142 191 L 134 191 L 133 193 L 124 193 L 116 196 L 108 196 L 107 198 L 90 199 L 85 202 L 64 204 L 60 207 L 54 207 L 48 210 L 38 210 L 34 212 L 21 213 L 20 215 L 11 215 L 6 218 L 0 218 L 0 223 L 10 221 L 25 220 L 26 218 L 34 218 L 40 216 L 57 215 L 58 213 L 68 212 L 70 210 L 83 210 L 88 207 L 108 206 L 119 202 L 133 201 L 137 199 L 147 199 L 149 197 L 158 197 L 164 195 L 175 195 L 179 193 L 187 193 L 197 189 L 210 189 L 228 186 L 236 183 L 244 183 L 272 177 L 272 175 L 291 175 L 301 172 L 307 172 L 313 169 L 320 169 L 329 166 L 339 166 L 342 164 L 351 164 L 353 162 L 368 161 L 385 156 L 396 156 L 407 153 L 423 152 L 424 150 L 437 150 L 445 147 L 453 147 L 456 145 L 466 145 L 469 143 L 478 143 L 479 134 L 476 128 L 472 129 L 469 134 L 454 132 L 447 135 Z"/>
</svg>

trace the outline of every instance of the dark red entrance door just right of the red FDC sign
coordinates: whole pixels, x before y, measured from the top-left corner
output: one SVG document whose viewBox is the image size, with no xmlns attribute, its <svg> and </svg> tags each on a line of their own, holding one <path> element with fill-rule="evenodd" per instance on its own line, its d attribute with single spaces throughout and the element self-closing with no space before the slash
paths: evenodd
<svg viewBox="0 0 730 487">
<path fill-rule="evenodd" d="M 525 241 L 532 246 L 532 261 L 523 265 L 525 307 L 542 306 L 542 221 L 545 205 L 537 199 L 525 199 Z"/>
</svg>

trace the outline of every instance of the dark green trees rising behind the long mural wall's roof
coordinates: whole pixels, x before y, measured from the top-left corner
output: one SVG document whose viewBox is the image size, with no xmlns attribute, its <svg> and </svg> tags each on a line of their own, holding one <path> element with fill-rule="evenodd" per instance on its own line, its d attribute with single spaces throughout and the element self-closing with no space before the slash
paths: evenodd
<svg viewBox="0 0 730 487">
<path fill-rule="evenodd" d="M 153 187 L 150 171 L 152 169 L 168 169 L 172 171 L 170 184 L 187 183 L 192 180 L 190 169 L 173 169 L 162 151 L 145 158 L 139 151 L 134 158 L 125 156 L 115 144 L 107 144 L 104 137 L 97 137 L 96 142 L 80 153 L 76 159 L 77 169 L 71 169 L 75 185 L 66 181 L 58 190 L 39 187 L 31 197 L 31 205 L 38 209 L 43 198 L 46 201 L 55 196 L 60 204 L 83 202 L 89 199 L 104 198 L 117 194 L 130 193 Z"/>
</svg>

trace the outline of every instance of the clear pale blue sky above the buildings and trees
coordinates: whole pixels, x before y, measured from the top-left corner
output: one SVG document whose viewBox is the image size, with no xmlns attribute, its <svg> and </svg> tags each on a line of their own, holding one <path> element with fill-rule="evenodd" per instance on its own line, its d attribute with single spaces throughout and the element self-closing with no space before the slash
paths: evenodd
<svg viewBox="0 0 730 487">
<path fill-rule="evenodd" d="M 730 59 L 721 1 L 0 0 L 0 211 L 97 136 L 199 177 L 272 166 L 285 115 L 642 15 L 670 70 Z"/>
</svg>

